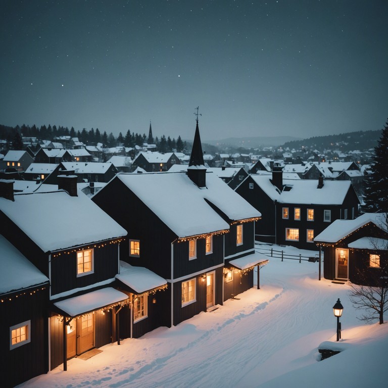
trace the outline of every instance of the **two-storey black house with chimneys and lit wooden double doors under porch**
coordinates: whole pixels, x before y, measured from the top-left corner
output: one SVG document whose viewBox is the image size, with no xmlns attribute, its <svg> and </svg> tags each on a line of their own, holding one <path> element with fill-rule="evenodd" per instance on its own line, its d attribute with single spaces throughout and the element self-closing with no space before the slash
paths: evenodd
<svg viewBox="0 0 388 388">
<path fill-rule="evenodd" d="M 117 340 L 115 312 L 129 302 L 113 286 L 127 233 L 77 192 L 76 176 L 58 178 L 58 191 L 18 195 L 0 182 L 0 232 L 50 280 L 44 357 L 66 370 L 68 358 Z"/>
</svg>

